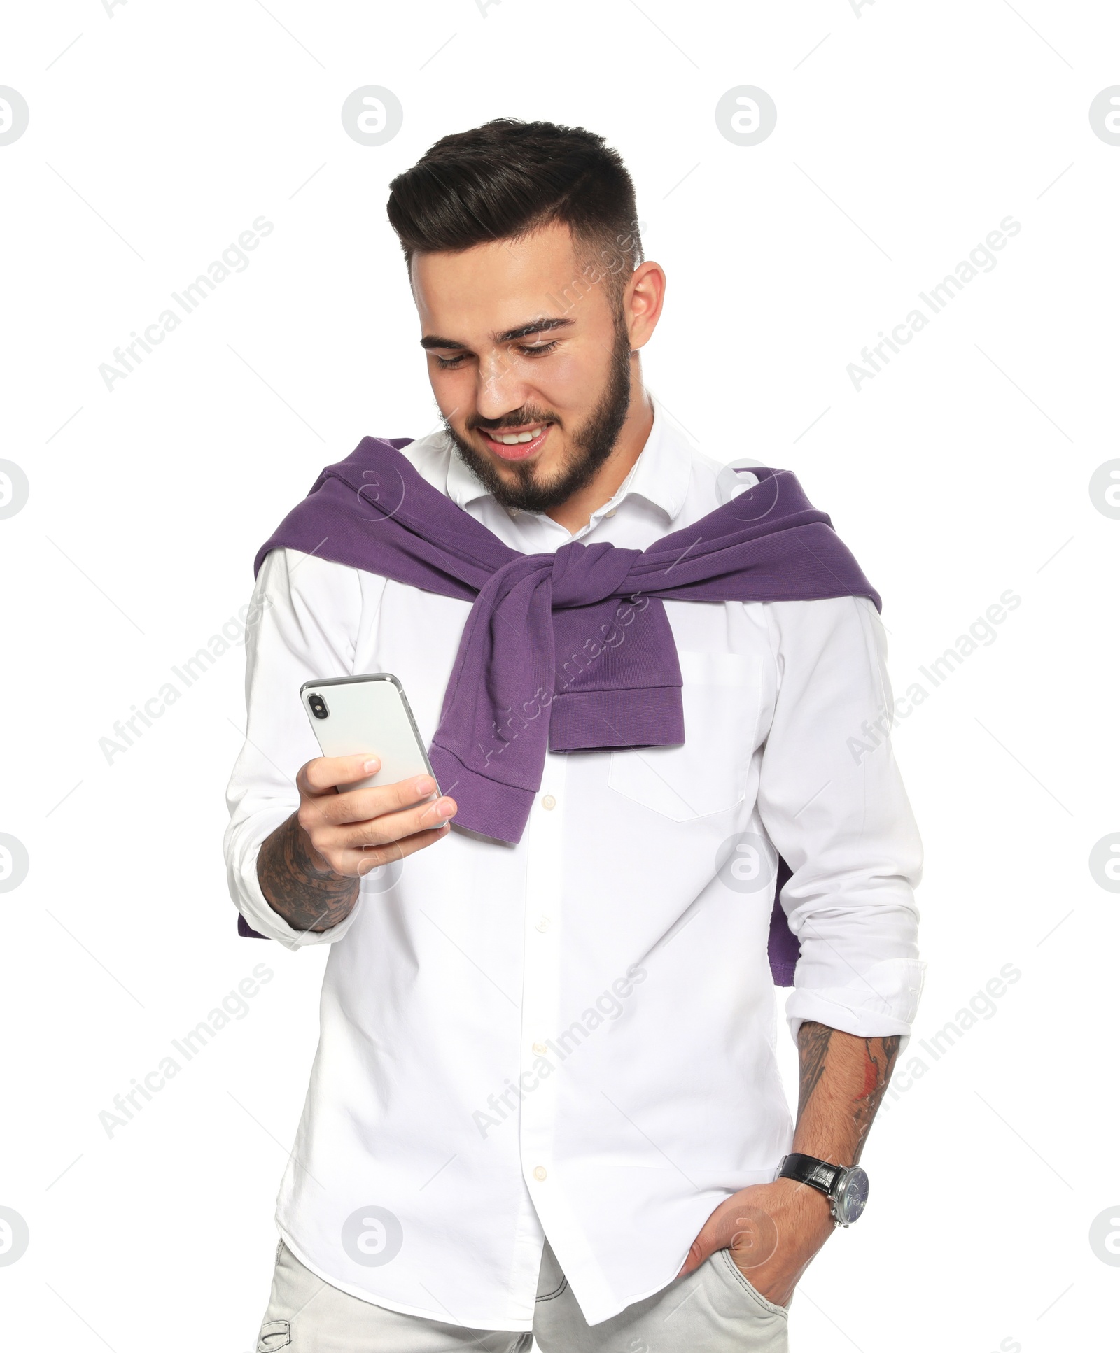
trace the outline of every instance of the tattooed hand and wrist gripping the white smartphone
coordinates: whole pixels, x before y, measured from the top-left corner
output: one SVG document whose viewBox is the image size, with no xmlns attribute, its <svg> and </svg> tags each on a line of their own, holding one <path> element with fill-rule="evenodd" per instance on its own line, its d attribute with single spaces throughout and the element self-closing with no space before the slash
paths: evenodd
<svg viewBox="0 0 1120 1353">
<path fill-rule="evenodd" d="M 339 789 L 378 770 L 381 760 L 370 754 L 316 756 L 295 777 L 299 808 L 257 856 L 261 892 L 293 930 L 337 925 L 353 911 L 363 874 L 447 835 L 458 805 L 446 794 L 432 798 L 431 775 Z"/>
</svg>

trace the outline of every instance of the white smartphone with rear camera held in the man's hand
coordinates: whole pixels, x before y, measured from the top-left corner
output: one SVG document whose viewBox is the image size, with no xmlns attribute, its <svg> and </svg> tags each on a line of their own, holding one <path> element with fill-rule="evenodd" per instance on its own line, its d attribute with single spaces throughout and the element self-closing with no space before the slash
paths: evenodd
<svg viewBox="0 0 1120 1353">
<path fill-rule="evenodd" d="M 375 775 L 339 785 L 340 793 L 371 785 L 395 785 L 413 775 L 432 775 L 405 690 L 391 672 L 307 681 L 299 687 L 299 698 L 324 756 L 374 752 L 381 758 L 381 770 Z M 431 797 L 439 797 L 439 786 Z"/>
</svg>

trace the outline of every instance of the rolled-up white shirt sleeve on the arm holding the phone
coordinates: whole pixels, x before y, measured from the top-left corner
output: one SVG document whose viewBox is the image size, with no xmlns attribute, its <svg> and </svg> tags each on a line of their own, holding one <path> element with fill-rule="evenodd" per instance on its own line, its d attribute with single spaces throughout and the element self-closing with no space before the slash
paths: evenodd
<svg viewBox="0 0 1120 1353">
<path fill-rule="evenodd" d="M 352 672 L 360 617 L 355 570 L 295 549 L 265 556 L 246 617 L 245 743 L 226 789 L 230 820 L 223 844 L 234 905 L 255 931 L 287 948 L 333 943 L 358 915 L 355 907 L 326 931 L 293 930 L 261 892 L 257 854 L 299 806 L 299 767 L 321 755 L 299 687 L 316 676 Z"/>
</svg>

